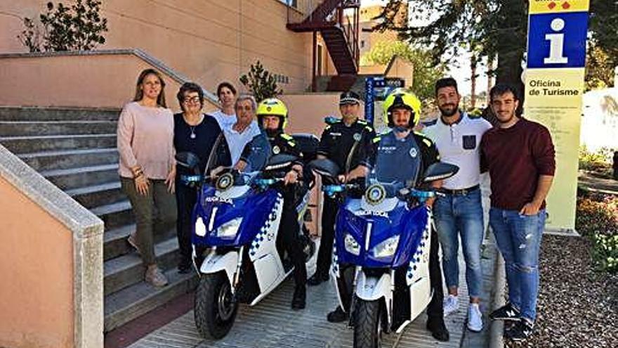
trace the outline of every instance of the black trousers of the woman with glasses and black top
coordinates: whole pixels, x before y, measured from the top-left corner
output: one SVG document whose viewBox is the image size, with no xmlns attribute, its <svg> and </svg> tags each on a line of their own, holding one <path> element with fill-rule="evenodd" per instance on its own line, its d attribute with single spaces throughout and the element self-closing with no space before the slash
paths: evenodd
<svg viewBox="0 0 618 348">
<path fill-rule="evenodd" d="M 197 189 L 190 188 L 176 179 L 176 207 L 178 219 L 176 220 L 176 236 L 178 236 L 178 248 L 180 249 L 180 266 L 191 265 L 191 214 L 197 202 Z"/>
</svg>

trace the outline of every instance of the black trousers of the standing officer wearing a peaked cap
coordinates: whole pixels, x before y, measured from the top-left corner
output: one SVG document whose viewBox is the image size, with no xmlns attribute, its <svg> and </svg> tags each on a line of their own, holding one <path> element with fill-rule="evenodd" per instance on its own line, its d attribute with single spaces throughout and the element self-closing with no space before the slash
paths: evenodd
<svg viewBox="0 0 618 348">
<path fill-rule="evenodd" d="M 322 237 L 320 238 L 320 250 L 317 251 L 317 265 L 315 274 L 327 276 L 331 266 L 333 243 L 335 238 L 335 219 L 339 205 L 336 199 L 324 195 L 324 207 L 322 207 Z"/>
</svg>

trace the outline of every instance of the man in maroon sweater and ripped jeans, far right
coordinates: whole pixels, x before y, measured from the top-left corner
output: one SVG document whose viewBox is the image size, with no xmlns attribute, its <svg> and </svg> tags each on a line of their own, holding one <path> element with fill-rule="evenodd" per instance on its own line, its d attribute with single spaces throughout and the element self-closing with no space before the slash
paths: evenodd
<svg viewBox="0 0 618 348">
<path fill-rule="evenodd" d="M 506 337 L 532 335 L 539 294 L 539 248 L 545 226 L 545 198 L 555 172 L 555 151 L 546 127 L 515 115 L 517 91 L 497 84 L 490 103 L 499 124 L 481 140 L 481 169 L 492 179 L 492 226 L 506 265 L 508 302 L 489 315 L 513 321 Z"/>
</svg>

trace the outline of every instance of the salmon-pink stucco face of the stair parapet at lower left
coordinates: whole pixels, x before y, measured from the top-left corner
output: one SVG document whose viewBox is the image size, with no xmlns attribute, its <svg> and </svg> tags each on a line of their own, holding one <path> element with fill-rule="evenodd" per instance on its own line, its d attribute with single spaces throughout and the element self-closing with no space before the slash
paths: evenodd
<svg viewBox="0 0 618 348">
<path fill-rule="evenodd" d="M 2 178 L 0 207 L 0 347 L 74 347 L 72 232 Z"/>
</svg>

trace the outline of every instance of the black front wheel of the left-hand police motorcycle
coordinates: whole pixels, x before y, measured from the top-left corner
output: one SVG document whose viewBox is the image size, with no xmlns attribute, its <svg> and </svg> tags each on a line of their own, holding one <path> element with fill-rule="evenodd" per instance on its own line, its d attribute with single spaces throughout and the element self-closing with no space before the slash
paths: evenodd
<svg viewBox="0 0 618 348">
<path fill-rule="evenodd" d="M 238 311 L 230 281 L 225 273 L 204 274 L 195 291 L 195 326 L 204 338 L 221 339 L 228 335 Z"/>
</svg>

